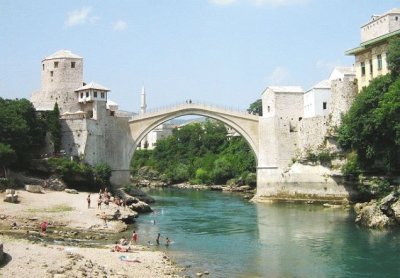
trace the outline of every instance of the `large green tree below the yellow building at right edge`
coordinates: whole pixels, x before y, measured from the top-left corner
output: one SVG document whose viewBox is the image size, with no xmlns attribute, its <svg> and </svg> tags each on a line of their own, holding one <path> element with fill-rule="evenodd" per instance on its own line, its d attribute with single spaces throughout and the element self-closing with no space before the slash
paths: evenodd
<svg viewBox="0 0 400 278">
<path fill-rule="evenodd" d="M 355 150 L 367 172 L 395 172 L 400 166 L 400 79 L 375 78 L 357 96 L 338 130 L 344 150 Z"/>
</svg>

